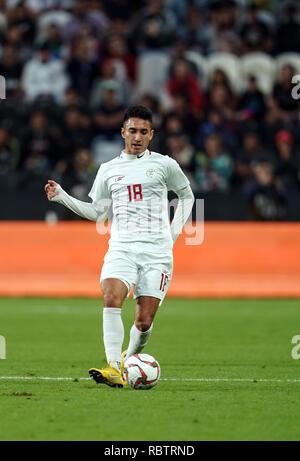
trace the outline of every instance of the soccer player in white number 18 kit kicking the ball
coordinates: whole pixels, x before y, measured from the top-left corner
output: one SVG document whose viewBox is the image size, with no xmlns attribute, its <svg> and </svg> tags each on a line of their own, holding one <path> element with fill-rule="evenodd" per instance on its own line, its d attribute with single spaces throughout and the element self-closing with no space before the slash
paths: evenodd
<svg viewBox="0 0 300 461">
<path fill-rule="evenodd" d="M 97 383 L 111 387 L 126 385 L 124 360 L 141 352 L 150 338 L 154 316 L 172 277 L 172 248 L 194 203 L 189 181 L 178 163 L 167 155 L 148 150 L 154 134 L 149 109 L 129 108 L 121 134 L 125 148 L 100 166 L 89 193 L 92 203 L 71 197 L 55 181 L 49 180 L 45 186 L 49 200 L 91 221 L 106 220 L 112 205 L 111 238 L 100 278 L 108 365 L 89 370 Z M 173 190 L 179 199 L 171 226 L 168 190 Z M 127 351 L 122 353 L 121 307 L 132 285 L 136 299 L 135 321 Z"/>
</svg>

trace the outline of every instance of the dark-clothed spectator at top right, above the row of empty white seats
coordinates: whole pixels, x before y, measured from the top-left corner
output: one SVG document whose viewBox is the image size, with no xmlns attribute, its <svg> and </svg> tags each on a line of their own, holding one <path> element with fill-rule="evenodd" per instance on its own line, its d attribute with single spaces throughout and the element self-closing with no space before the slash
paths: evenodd
<svg viewBox="0 0 300 461">
<path fill-rule="evenodd" d="M 252 3 L 247 8 L 247 20 L 240 30 L 243 53 L 262 51 L 271 53 L 273 48 L 272 32 L 259 17 L 259 6 Z"/>
</svg>

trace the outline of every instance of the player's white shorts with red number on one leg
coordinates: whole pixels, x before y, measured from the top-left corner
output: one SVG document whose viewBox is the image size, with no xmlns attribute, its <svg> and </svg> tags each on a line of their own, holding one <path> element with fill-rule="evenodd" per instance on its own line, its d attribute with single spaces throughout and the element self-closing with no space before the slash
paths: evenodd
<svg viewBox="0 0 300 461">
<path fill-rule="evenodd" d="M 161 305 L 173 273 L 173 255 L 150 255 L 131 251 L 109 250 L 104 257 L 100 282 L 119 279 L 128 288 L 134 285 L 133 297 L 153 296 Z"/>
</svg>

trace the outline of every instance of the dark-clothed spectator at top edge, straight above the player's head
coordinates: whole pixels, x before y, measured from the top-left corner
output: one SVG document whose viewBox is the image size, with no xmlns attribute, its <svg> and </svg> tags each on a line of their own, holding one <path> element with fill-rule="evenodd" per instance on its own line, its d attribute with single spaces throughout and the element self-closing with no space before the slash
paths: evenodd
<svg viewBox="0 0 300 461">
<path fill-rule="evenodd" d="M 176 17 L 165 0 L 147 0 L 130 26 L 130 43 L 135 52 L 169 47 L 175 38 Z"/>
</svg>

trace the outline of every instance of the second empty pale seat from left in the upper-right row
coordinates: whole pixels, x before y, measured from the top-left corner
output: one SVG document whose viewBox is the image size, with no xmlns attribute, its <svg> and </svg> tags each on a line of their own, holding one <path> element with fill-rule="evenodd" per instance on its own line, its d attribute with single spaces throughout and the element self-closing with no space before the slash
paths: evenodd
<svg viewBox="0 0 300 461">
<path fill-rule="evenodd" d="M 276 74 L 274 59 L 268 54 L 254 52 L 241 58 L 243 78 L 246 82 L 251 75 L 256 77 L 258 88 L 265 94 L 270 95 Z"/>
</svg>

